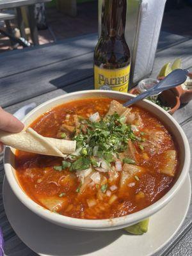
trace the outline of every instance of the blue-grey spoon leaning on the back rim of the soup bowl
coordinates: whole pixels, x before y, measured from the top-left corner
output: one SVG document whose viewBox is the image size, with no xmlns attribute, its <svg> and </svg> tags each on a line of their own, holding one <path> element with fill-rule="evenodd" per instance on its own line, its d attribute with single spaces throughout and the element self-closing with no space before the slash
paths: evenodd
<svg viewBox="0 0 192 256">
<path fill-rule="evenodd" d="M 164 90 L 168 90 L 179 84 L 182 84 L 186 81 L 188 77 L 188 70 L 186 69 L 175 69 L 168 76 L 164 77 L 159 83 L 157 83 L 154 87 L 148 89 L 146 92 L 141 93 L 135 98 L 124 103 L 124 107 L 131 106 L 132 104 L 147 98 L 148 96 L 155 95 L 159 92 L 163 92 Z"/>
</svg>

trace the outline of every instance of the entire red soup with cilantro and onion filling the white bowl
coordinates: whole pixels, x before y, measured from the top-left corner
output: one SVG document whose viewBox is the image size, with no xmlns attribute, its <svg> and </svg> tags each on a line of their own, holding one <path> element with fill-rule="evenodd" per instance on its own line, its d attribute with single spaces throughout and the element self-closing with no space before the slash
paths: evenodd
<svg viewBox="0 0 192 256">
<path fill-rule="evenodd" d="M 176 145 L 144 109 L 81 99 L 51 109 L 30 127 L 46 137 L 77 141 L 76 152 L 64 159 L 15 154 L 20 185 L 50 211 L 83 219 L 120 217 L 153 204 L 175 182 Z"/>
</svg>

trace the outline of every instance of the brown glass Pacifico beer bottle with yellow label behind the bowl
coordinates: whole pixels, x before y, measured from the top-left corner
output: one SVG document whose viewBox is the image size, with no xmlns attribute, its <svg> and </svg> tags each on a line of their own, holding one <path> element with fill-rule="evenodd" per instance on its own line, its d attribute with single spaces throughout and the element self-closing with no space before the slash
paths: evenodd
<svg viewBox="0 0 192 256">
<path fill-rule="evenodd" d="M 94 52 L 95 89 L 127 92 L 131 54 L 125 41 L 127 0 L 102 0 L 101 36 Z"/>
</svg>

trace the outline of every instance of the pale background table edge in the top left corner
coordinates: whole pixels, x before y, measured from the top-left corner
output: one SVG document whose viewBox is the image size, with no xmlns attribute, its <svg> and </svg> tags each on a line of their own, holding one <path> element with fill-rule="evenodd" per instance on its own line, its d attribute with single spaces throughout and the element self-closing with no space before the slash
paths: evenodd
<svg viewBox="0 0 192 256">
<path fill-rule="evenodd" d="M 0 0 L 0 9 L 16 8 L 30 4 L 46 3 L 51 0 Z"/>
</svg>

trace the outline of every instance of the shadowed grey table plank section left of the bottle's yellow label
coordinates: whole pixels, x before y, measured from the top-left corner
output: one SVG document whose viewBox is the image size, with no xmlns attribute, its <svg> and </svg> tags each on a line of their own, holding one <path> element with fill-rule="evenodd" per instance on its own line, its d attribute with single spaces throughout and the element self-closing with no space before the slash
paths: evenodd
<svg viewBox="0 0 192 256">
<path fill-rule="evenodd" d="M 10 106 L 93 76 L 93 53 L 2 78 L 0 105 Z"/>
</svg>

